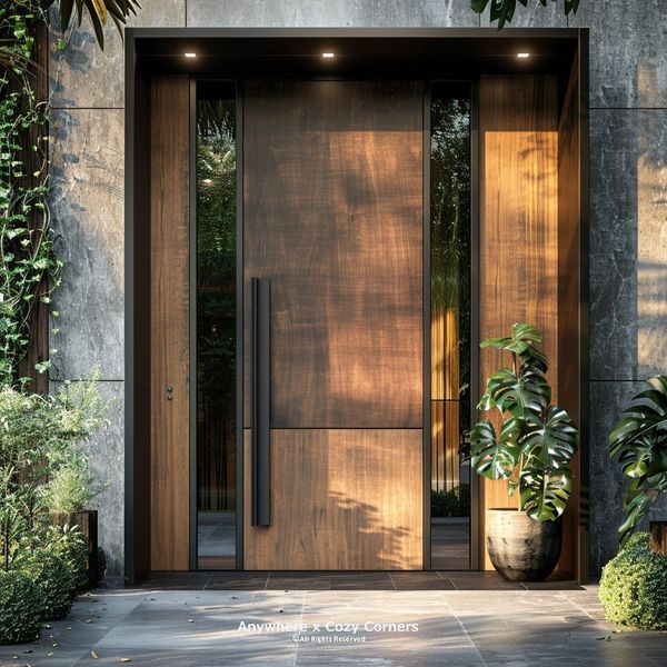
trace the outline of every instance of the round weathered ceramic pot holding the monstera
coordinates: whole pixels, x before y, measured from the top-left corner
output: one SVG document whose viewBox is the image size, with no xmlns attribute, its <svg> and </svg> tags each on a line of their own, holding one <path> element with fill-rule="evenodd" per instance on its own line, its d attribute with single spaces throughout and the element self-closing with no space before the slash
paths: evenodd
<svg viewBox="0 0 667 667">
<path fill-rule="evenodd" d="M 563 518 L 535 521 L 516 509 L 486 510 L 487 549 L 494 567 L 511 581 L 544 581 L 563 546 Z"/>
</svg>

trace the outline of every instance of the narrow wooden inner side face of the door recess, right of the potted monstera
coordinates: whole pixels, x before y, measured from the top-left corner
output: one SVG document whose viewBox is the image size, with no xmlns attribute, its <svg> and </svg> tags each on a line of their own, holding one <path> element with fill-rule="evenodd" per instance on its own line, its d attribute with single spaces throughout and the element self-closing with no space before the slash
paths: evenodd
<svg viewBox="0 0 667 667">
<path fill-rule="evenodd" d="M 558 123 L 558 396 L 559 404 L 580 425 L 580 155 L 578 59 L 570 72 Z M 584 438 L 581 446 L 586 447 Z M 558 569 L 579 577 L 588 571 L 587 521 L 581 515 L 580 455 L 571 464 L 575 485 L 563 521 Z M 585 542 L 586 548 L 581 548 Z"/>
</svg>

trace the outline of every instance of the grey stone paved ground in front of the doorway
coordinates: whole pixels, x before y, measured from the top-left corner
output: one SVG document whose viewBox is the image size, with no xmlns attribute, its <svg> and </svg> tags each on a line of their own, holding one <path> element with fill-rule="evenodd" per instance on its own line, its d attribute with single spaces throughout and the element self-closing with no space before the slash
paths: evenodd
<svg viewBox="0 0 667 667">
<path fill-rule="evenodd" d="M 340 580 L 344 575 L 328 577 Z M 310 581 L 307 573 L 292 580 Z M 252 623 L 283 625 L 258 634 L 248 625 Z M 327 623 L 334 624 L 330 629 Z M 400 623 L 417 624 L 418 629 L 399 630 Z M 345 624 L 358 624 L 357 631 Z M 667 633 L 615 631 L 601 619 L 596 586 L 477 591 L 99 589 L 81 596 L 67 619 L 50 625 L 39 644 L 0 647 L 0 667 L 111 665 L 121 658 L 148 667 L 667 667 Z M 378 631 L 387 629 L 392 631 Z"/>
</svg>

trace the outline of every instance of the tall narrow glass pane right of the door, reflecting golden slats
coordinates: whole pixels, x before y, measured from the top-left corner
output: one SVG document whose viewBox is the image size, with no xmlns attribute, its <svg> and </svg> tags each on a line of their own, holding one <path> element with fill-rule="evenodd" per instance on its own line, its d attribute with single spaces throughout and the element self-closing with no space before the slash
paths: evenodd
<svg viewBox="0 0 667 667">
<path fill-rule="evenodd" d="M 470 567 L 470 87 L 430 104 L 431 566 Z"/>
</svg>

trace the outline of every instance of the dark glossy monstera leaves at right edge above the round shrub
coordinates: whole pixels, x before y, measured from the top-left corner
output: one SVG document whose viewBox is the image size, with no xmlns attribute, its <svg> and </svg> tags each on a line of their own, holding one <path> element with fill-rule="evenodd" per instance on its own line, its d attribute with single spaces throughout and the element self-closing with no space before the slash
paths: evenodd
<svg viewBox="0 0 667 667">
<path fill-rule="evenodd" d="M 630 478 L 618 529 L 625 545 L 659 494 L 667 491 L 667 377 L 647 381 L 649 388 L 633 399 L 609 435 L 609 456 Z"/>
</svg>

